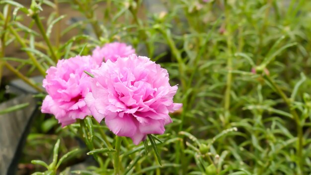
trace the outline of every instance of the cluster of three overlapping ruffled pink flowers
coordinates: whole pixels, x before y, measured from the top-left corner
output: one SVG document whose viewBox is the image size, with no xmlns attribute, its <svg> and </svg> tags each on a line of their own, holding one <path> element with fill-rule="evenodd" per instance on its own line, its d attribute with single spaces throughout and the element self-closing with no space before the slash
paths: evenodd
<svg viewBox="0 0 311 175">
<path fill-rule="evenodd" d="M 43 81 L 49 95 L 41 111 L 54 114 L 62 126 L 86 115 L 99 123 L 104 119 L 114 134 L 136 145 L 148 134 L 163 134 L 172 122 L 168 113 L 182 106 L 173 102 L 177 86 L 170 86 L 160 65 L 133 53 L 131 46 L 115 42 L 96 47 L 92 56 L 60 60 Z"/>
</svg>

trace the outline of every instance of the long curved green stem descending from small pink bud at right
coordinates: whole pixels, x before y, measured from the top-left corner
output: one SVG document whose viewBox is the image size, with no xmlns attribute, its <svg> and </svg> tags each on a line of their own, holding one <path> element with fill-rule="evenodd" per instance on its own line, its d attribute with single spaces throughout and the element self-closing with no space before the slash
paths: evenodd
<svg viewBox="0 0 311 175">
<path fill-rule="evenodd" d="M 304 165 L 304 159 L 303 159 L 303 126 L 300 121 L 300 117 L 296 110 L 292 107 L 291 100 L 286 96 L 286 94 L 283 92 L 283 90 L 270 78 L 268 75 L 264 75 L 264 78 L 272 85 L 272 87 L 275 88 L 275 90 L 279 93 L 279 95 L 283 98 L 285 103 L 287 104 L 290 113 L 293 115 L 294 120 L 296 122 L 297 127 L 297 137 L 298 137 L 298 148 L 297 148 L 297 164 L 298 164 L 298 174 L 303 174 L 303 165 Z"/>
</svg>

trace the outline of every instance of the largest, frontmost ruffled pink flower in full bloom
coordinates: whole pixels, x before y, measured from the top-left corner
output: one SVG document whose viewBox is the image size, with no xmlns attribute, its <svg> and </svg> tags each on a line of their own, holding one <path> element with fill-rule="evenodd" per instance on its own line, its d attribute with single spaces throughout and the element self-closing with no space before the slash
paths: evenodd
<svg viewBox="0 0 311 175">
<path fill-rule="evenodd" d="M 136 145 L 147 134 L 163 134 L 172 122 L 168 112 L 182 106 L 173 103 L 177 86 L 169 85 L 167 71 L 147 57 L 108 60 L 93 74 L 92 92 L 84 99 L 92 115 L 98 122 L 105 118 L 114 134 Z"/>
</svg>

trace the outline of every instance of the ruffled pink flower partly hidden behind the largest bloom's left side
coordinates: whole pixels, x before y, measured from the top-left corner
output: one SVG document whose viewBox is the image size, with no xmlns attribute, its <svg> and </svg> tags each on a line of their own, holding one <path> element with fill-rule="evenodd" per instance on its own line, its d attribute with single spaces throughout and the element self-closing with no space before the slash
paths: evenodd
<svg viewBox="0 0 311 175">
<path fill-rule="evenodd" d="M 59 60 L 56 67 L 49 68 L 43 80 L 48 95 L 43 100 L 41 111 L 54 114 L 62 126 L 90 115 L 83 99 L 91 90 L 91 77 L 83 71 L 91 72 L 96 67 L 92 57 L 76 56 Z"/>
</svg>

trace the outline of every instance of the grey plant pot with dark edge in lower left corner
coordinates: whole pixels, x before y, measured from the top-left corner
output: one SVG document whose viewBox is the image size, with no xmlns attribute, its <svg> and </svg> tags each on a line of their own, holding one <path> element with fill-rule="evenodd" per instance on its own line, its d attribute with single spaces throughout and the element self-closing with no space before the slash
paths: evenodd
<svg viewBox="0 0 311 175">
<path fill-rule="evenodd" d="M 0 175 L 15 175 L 18 161 L 38 105 L 32 94 L 22 94 L 0 104 L 0 110 L 29 103 L 25 108 L 0 115 Z"/>
</svg>

